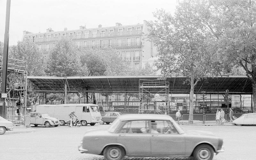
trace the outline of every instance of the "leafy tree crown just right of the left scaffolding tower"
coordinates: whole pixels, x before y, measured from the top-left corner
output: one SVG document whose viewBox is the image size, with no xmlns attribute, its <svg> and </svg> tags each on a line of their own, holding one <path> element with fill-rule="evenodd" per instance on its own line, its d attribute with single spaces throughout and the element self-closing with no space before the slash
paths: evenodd
<svg viewBox="0 0 256 160">
<path fill-rule="evenodd" d="M 26 61 L 29 76 L 44 75 L 44 56 L 35 43 L 31 41 L 18 42 L 17 46 L 14 46 L 12 50 L 13 52 L 10 52 L 8 56 Z"/>
</svg>

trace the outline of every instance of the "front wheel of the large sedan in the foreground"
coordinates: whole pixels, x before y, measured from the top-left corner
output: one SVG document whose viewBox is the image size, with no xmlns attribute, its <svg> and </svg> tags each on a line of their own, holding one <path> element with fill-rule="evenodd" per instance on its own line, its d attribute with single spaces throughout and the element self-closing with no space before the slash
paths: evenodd
<svg viewBox="0 0 256 160">
<path fill-rule="evenodd" d="M 193 157 L 194 160 L 212 160 L 213 154 L 212 146 L 201 144 L 194 150 Z"/>
</svg>

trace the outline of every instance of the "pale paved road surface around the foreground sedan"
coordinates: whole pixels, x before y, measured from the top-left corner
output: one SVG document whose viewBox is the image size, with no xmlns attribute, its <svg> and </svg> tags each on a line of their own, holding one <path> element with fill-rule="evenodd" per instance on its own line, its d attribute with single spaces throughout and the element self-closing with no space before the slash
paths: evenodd
<svg viewBox="0 0 256 160">
<path fill-rule="evenodd" d="M 103 160 L 103 156 L 81 154 L 77 150 L 84 133 L 110 125 L 46 128 L 33 127 L 34 133 L 0 135 L 1 160 Z M 256 126 L 182 126 L 186 130 L 211 131 L 224 138 L 226 151 L 214 160 L 254 160 Z M 125 158 L 130 160 L 130 158 Z M 154 160 L 155 158 L 133 158 Z M 163 159 L 163 158 L 161 158 Z M 167 158 L 171 160 L 172 158 Z M 177 159 L 176 159 L 177 160 Z"/>
</svg>

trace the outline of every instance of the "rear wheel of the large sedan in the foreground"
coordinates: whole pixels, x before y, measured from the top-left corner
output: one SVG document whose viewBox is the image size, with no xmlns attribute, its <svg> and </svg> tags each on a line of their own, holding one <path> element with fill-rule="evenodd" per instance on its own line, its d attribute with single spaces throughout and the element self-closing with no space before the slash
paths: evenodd
<svg viewBox="0 0 256 160">
<path fill-rule="evenodd" d="M 124 159 L 124 148 L 121 146 L 107 146 L 104 151 L 103 155 L 105 160 L 122 160 Z"/>
</svg>

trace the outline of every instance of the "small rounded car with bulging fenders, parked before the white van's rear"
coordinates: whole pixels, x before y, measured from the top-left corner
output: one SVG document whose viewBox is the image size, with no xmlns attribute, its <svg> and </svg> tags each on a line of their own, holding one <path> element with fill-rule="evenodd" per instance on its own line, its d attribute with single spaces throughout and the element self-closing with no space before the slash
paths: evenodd
<svg viewBox="0 0 256 160">
<path fill-rule="evenodd" d="M 48 113 L 31 112 L 28 113 L 30 124 L 34 126 L 44 125 L 46 127 L 59 126 L 60 121 L 57 118 L 50 117 Z"/>
</svg>

